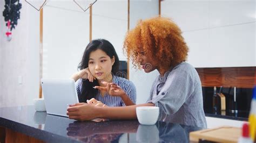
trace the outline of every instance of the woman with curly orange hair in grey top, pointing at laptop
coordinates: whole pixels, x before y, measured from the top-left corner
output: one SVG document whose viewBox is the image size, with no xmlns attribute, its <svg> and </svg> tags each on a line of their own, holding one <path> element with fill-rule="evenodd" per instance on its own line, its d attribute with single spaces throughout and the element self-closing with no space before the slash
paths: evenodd
<svg viewBox="0 0 256 143">
<path fill-rule="evenodd" d="M 117 108 L 75 104 L 68 108 L 69 118 L 136 119 L 136 107 L 158 106 L 161 121 L 207 127 L 200 78 L 196 69 L 185 62 L 188 47 L 172 20 L 157 17 L 140 21 L 127 33 L 124 49 L 135 67 L 143 68 L 146 73 L 159 71 L 147 102 Z M 113 83 L 107 83 L 107 87 L 97 88 L 109 92 L 120 90 Z"/>
</svg>

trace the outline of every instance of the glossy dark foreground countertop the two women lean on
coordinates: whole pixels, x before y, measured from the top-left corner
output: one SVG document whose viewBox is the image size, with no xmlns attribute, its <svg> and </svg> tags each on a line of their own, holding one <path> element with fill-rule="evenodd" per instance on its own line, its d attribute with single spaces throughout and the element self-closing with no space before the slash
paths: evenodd
<svg viewBox="0 0 256 143">
<path fill-rule="evenodd" d="M 33 106 L 0 108 L 0 126 L 46 142 L 189 142 L 189 132 L 203 128 L 158 121 L 76 121 L 36 112 Z"/>
</svg>

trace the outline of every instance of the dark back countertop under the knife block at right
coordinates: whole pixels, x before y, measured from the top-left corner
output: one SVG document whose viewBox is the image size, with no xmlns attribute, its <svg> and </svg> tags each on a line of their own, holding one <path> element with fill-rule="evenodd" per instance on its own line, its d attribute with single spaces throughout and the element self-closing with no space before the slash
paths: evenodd
<svg viewBox="0 0 256 143">
<path fill-rule="evenodd" d="M 204 109 L 206 117 L 215 117 L 223 119 L 232 119 L 232 120 L 242 120 L 248 121 L 249 113 L 247 111 L 238 111 L 237 113 L 232 113 L 231 111 L 218 111 L 215 112 L 212 109 Z"/>
</svg>

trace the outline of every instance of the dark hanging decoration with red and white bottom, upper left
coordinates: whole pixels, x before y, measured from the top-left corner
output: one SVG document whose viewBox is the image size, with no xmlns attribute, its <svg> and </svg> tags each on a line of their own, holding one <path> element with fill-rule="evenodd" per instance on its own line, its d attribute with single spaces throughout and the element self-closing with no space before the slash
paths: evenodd
<svg viewBox="0 0 256 143">
<path fill-rule="evenodd" d="M 5 0 L 4 5 L 4 21 L 6 22 L 7 31 L 5 32 L 6 39 L 11 40 L 11 31 L 18 24 L 18 19 L 21 14 L 19 10 L 22 8 L 22 4 L 19 3 L 19 0 Z"/>
</svg>

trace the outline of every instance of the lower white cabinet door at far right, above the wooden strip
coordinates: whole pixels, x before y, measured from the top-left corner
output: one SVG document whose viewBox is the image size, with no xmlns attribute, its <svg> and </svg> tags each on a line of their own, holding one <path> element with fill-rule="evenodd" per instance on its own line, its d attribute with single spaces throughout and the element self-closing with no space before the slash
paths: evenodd
<svg viewBox="0 0 256 143">
<path fill-rule="evenodd" d="M 248 23 L 211 28 L 207 54 L 211 67 L 255 66 L 255 26 Z"/>
</svg>

